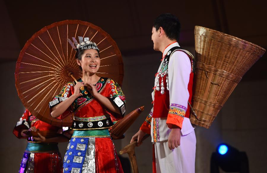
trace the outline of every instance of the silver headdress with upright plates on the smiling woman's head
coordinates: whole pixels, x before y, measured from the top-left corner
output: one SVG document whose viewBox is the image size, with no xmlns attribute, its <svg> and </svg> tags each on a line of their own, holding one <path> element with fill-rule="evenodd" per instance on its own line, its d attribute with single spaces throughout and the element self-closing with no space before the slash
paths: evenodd
<svg viewBox="0 0 267 173">
<path fill-rule="evenodd" d="M 72 37 L 72 40 L 74 41 L 75 46 L 72 43 L 72 41 L 68 38 L 68 42 L 70 43 L 70 45 L 73 49 L 79 49 L 79 48 L 81 48 L 82 50 L 83 49 L 95 49 L 95 50 L 99 51 L 96 43 L 91 42 L 88 37 L 85 37 L 84 39 L 83 39 L 83 37 L 79 37 L 80 43 L 78 43 L 74 37 Z"/>
</svg>

